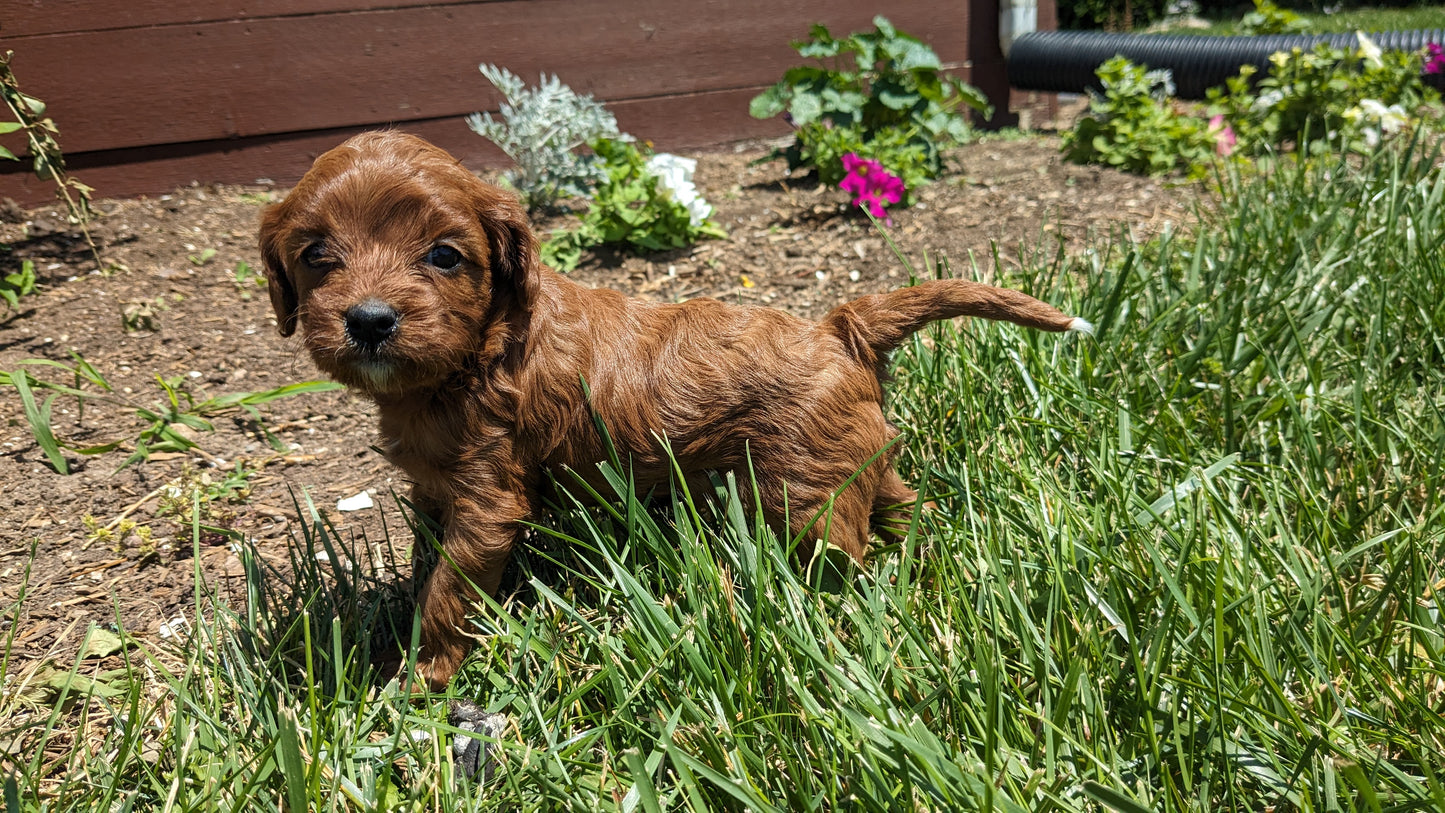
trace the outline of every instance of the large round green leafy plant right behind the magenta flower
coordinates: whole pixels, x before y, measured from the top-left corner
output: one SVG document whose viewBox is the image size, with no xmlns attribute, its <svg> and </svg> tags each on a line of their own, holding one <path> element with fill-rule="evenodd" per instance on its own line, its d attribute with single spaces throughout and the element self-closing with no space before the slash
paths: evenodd
<svg viewBox="0 0 1445 813">
<path fill-rule="evenodd" d="M 789 169 L 814 168 L 825 183 L 844 176 L 848 153 L 905 178 L 932 179 L 942 172 L 941 150 L 970 137 L 961 108 L 991 114 L 977 88 L 944 74 L 933 49 L 883 16 L 873 25 L 844 39 L 815 25 L 793 43 L 818 65 L 789 68 L 749 105 L 757 118 L 786 113 L 798 127 L 793 143 L 770 157 L 786 159 Z"/>
</svg>

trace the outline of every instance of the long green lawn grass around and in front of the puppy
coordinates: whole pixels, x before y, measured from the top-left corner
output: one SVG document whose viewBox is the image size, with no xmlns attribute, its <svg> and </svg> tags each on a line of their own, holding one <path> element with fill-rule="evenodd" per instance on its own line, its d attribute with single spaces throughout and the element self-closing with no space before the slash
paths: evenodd
<svg viewBox="0 0 1445 813">
<path fill-rule="evenodd" d="M 899 354 L 938 510 L 866 573 L 795 566 L 727 482 L 561 507 L 451 687 L 512 721 L 488 787 L 444 699 L 371 666 L 407 596 L 303 505 L 293 562 L 247 556 L 244 608 L 198 592 L 186 645 L 0 661 L 7 810 L 1445 809 L 1445 179 L 1222 186 L 1004 280 L 1095 339 Z"/>
</svg>

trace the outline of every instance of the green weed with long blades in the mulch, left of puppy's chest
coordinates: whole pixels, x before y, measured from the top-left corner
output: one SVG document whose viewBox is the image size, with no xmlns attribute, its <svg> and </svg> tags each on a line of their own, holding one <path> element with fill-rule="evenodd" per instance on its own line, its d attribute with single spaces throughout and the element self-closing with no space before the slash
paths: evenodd
<svg viewBox="0 0 1445 813">
<path fill-rule="evenodd" d="M 111 386 L 101 371 L 91 362 L 85 361 L 81 355 L 71 352 L 71 358 L 74 360 L 74 364 L 45 358 L 32 358 L 20 362 L 25 367 L 52 367 L 62 370 L 69 374 L 72 380 L 71 384 L 38 378 L 29 373 L 29 370 L 14 370 L 9 373 L 0 371 L 0 386 L 14 387 L 16 393 L 20 396 L 20 406 L 25 412 L 26 422 L 30 425 L 30 433 L 35 436 L 35 440 L 45 453 L 45 458 L 51 462 L 51 466 L 59 474 L 69 474 L 69 464 L 65 461 L 64 453 L 65 449 L 78 455 L 101 455 L 129 445 L 131 448 L 131 453 L 124 462 L 120 464 L 120 468 L 126 468 L 139 461 L 144 461 L 152 452 L 184 452 L 186 449 L 197 448 L 197 442 L 191 438 L 191 435 L 195 432 L 211 432 L 214 426 L 210 419 L 233 413 L 250 416 L 251 420 L 260 426 L 262 433 L 266 436 L 272 448 L 282 451 L 283 445 L 270 433 L 270 430 L 266 429 L 266 423 L 257 407 L 280 399 L 289 399 L 305 393 L 324 393 L 341 387 L 334 381 L 302 381 L 259 393 L 230 393 L 214 399 L 197 399 L 195 394 L 185 387 L 184 377 L 178 375 L 163 378 L 156 375 L 156 384 L 160 388 L 162 400 L 159 403 L 146 404 L 126 393 L 116 391 L 116 387 Z M 84 388 L 87 386 L 94 388 Z M 38 400 L 38 391 L 49 394 L 45 400 Z M 52 406 L 61 396 L 74 397 L 81 414 L 84 414 L 85 406 L 91 403 L 110 404 L 130 410 L 137 419 L 140 419 L 142 429 L 104 443 L 79 445 L 64 442 L 55 435 L 53 422 L 51 419 Z"/>
</svg>

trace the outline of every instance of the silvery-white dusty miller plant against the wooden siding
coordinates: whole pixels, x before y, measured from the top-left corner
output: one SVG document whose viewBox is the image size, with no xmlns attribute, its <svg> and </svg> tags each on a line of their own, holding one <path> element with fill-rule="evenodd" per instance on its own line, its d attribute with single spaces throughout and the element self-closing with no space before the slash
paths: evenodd
<svg viewBox="0 0 1445 813">
<path fill-rule="evenodd" d="M 506 179 L 532 209 L 552 206 L 562 196 L 587 196 L 605 173 L 597 159 L 572 150 L 595 140 L 617 139 L 617 118 L 591 95 L 578 95 L 555 75 L 527 88 L 512 71 L 481 65 L 501 91 L 501 120 L 473 113 L 467 126 L 501 147 L 517 168 Z"/>
</svg>

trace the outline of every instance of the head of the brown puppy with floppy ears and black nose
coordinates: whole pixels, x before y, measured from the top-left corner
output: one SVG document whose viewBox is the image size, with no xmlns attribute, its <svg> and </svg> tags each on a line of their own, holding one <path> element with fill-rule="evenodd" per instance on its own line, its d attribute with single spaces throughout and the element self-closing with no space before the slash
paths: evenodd
<svg viewBox="0 0 1445 813">
<path fill-rule="evenodd" d="M 355 136 L 262 214 L 283 336 L 371 394 L 439 384 L 516 332 L 538 289 L 516 198 L 405 133 Z"/>
</svg>

